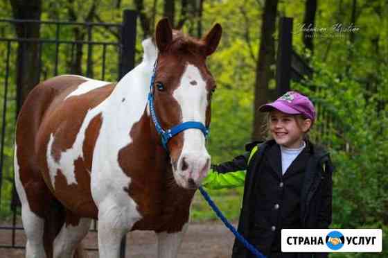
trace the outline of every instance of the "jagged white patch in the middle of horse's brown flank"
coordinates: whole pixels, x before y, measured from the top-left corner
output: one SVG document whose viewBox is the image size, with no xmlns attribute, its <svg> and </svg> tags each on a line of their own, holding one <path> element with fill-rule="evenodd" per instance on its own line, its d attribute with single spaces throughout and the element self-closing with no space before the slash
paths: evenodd
<svg viewBox="0 0 388 258">
<path fill-rule="evenodd" d="M 78 131 L 78 134 L 76 136 L 76 141 L 74 141 L 73 146 L 71 148 L 60 153 L 60 160 L 58 160 L 58 162 L 54 160 L 51 154 L 53 153 L 52 145 L 53 145 L 55 135 L 53 134 L 50 135 L 50 139 L 48 141 L 47 150 L 46 150 L 47 151 L 46 158 L 47 158 L 47 164 L 48 164 L 48 170 L 51 178 L 51 183 L 54 189 L 55 189 L 55 176 L 58 173 L 58 169 L 60 169 L 60 171 L 66 178 L 67 184 L 77 184 L 74 161 L 76 161 L 78 157 L 81 157 L 82 159 L 84 157 L 82 146 L 85 140 L 85 132 L 87 130 L 87 127 L 89 126 L 91 119 L 94 119 L 94 117 L 96 117 L 96 115 L 100 113 L 101 104 L 102 103 L 100 103 L 100 105 L 94 107 L 93 109 L 87 112 L 85 119 L 82 122 L 82 126 L 80 127 L 80 130 Z M 90 171 L 88 171 L 88 173 L 90 173 Z"/>
</svg>

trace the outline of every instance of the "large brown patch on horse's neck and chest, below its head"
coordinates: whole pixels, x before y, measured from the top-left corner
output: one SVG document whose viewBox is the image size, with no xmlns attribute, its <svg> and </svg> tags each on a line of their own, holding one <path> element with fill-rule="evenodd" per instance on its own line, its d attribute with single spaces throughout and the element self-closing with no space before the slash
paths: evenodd
<svg viewBox="0 0 388 258">
<path fill-rule="evenodd" d="M 155 230 L 178 232 L 188 221 L 189 207 L 194 190 L 180 188 L 173 177 L 170 161 L 150 117 L 143 114 L 130 131 L 132 144 L 118 153 L 118 164 L 131 178 L 128 195 L 138 204 L 143 218 L 132 230 Z M 149 137 L 152 135 L 152 137 Z M 168 143 L 171 149 L 182 149 L 182 133 Z M 156 151 L 155 151 L 156 146 Z M 139 155 L 148 153 L 149 155 Z M 180 153 L 179 153 L 180 154 Z M 168 164 L 168 166 L 166 166 Z"/>
</svg>

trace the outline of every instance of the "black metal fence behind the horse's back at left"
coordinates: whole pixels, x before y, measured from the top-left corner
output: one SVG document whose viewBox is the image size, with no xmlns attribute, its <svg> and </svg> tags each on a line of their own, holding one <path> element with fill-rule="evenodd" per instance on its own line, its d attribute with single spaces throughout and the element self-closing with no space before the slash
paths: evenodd
<svg viewBox="0 0 388 258">
<path fill-rule="evenodd" d="M 28 37 L 28 26 L 22 24 L 37 24 L 40 37 Z M 17 32 L 20 28 L 26 30 Z M 19 200 L 13 180 L 13 143 L 21 105 L 18 91 L 24 86 L 24 76 L 31 72 L 27 70 L 33 69 L 38 81 L 58 74 L 115 81 L 134 67 L 135 39 L 136 12 L 132 10 L 123 12 L 123 24 L 0 19 L 0 216 L 9 218 L 8 223 L 0 224 L 0 232 L 10 232 L 9 243 L 0 243 L 0 248 L 24 248 L 15 239 L 16 232 L 23 227 L 19 223 Z M 33 44 L 35 53 L 31 53 Z M 31 54 L 37 56 L 37 63 L 21 69 L 21 56 Z M 96 222 L 92 225 L 91 230 L 96 231 Z M 124 256 L 125 241 L 121 251 L 121 257 Z"/>
</svg>

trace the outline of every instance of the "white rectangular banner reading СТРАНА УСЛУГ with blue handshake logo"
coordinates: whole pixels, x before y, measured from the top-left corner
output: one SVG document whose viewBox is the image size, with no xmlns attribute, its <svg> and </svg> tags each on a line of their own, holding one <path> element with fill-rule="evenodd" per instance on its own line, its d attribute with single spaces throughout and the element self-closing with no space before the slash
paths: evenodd
<svg viewBox="0 0 388 258">
<path fill-rule="evenodd" d="M 382 230 L 284 229 L 282 252 L 381 252 Z"/>
</svg>

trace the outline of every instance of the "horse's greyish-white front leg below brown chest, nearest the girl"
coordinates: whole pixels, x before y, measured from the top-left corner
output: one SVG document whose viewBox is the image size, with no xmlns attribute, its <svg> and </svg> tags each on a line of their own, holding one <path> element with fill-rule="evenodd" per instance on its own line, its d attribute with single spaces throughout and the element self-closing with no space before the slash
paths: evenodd
<svg viewBox="0 0 388 258">
<path fill-rule="evenodd" d="M 182 230 L 175 233 L 157 233 L 158 258 L 175 258 L 178 255 L 179 247 L 186 233 L 188 223 L 184 224 Z"/>
</svg>

